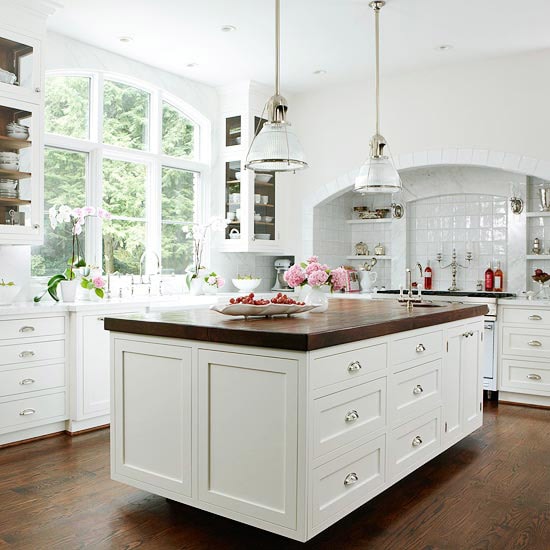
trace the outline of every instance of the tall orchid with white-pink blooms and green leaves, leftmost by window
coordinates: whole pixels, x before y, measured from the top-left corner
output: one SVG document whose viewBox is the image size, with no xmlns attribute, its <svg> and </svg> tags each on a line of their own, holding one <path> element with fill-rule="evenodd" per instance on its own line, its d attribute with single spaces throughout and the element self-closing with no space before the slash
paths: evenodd
<svg viewBox="0 0 550 550">
<path fill-rule="evenodd" d="M 50 218 L 50 225 L 53 230 L 58 226 L 69 224 L 70 232 L 72 237 L 72 247 L 71 247 L 71 257 L 67 260 L 67 268 L 63 273 L 58 273 L 50 278 L 46 290 L 40 295 L 35 296 L 34 301 L 39 302 L 45 295 L 48 293 L 56 302 L 59 301 L 57 295 L 57 287 L 61 281 L 72 281 L 76 277 L 75 271 L 80 268 L 86 267 L 86 261 L 81 255 L 81 246 L 78 239 L 79 235 L 82 233 L 82 229 L 86 224 L 86 218 L 88 217 L 98 217 L 102 220 L 110 220 L 111 214 L 104 210 L 103 208 L 95 208 L 93 206 L 83 206 L 82 208 L 71 208 L 66 204 L 61 206 L 54 205 L 48 211 L 48 216 Z M 86 281 L 88 283 L 88 281 Z M 96 294 L 99 297 L 102 297 L 101 290 L 103 286 L 93 285 L 82 285 L 83 288 L 93 289 L 96 291 Z M 97 292 L 101 290 L 101 292 Z"/>
</svg>

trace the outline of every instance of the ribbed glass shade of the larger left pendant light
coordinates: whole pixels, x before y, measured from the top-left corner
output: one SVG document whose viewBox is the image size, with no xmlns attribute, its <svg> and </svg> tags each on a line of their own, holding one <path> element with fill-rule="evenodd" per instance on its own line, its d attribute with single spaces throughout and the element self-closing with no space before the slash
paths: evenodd
<svg viewBox="0 0 550 550">
<path fill-rule="evenodd" d="M 267 122 L 254 139 L 246 167 L 277 172 L 307 167 L 304 151 L 288 122 Z"/>
</svg>

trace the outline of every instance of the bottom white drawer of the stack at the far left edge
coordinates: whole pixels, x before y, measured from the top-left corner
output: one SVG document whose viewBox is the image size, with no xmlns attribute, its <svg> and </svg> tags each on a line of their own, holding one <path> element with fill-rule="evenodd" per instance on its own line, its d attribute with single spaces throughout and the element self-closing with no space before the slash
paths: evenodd
<svg viewBox="0 0 550 550">
<path fill-rule="evenodd" d="M 24 428 L 42 420 L 66 417 L 65 392 L 25 397 L 16 401 L 0 403 L 0 430 Z"/>
</svg>

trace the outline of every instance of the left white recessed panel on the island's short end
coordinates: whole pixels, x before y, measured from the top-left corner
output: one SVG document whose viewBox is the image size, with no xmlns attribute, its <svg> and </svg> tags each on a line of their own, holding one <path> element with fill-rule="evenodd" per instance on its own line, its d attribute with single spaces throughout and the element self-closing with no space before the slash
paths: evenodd
<svg viewBox="0 0 550 550">
<path fill-rule="evenodd" d="M 191 496 L 191 348 L 115 340 L 113 479 Z"/>
</svg>

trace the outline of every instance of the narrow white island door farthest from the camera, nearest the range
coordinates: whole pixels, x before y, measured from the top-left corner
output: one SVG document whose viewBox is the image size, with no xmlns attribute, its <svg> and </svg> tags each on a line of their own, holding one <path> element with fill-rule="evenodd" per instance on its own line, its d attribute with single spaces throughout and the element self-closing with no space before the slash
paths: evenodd
<svg viewBox="0 0 550 550">
<path fill-rule="evenodd" d="M 483 324 L 466 325 L 462 340 L 462 431 L 470 433 L 483 423 Z"/>
</svg>

